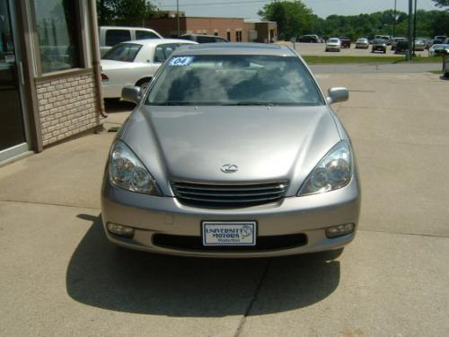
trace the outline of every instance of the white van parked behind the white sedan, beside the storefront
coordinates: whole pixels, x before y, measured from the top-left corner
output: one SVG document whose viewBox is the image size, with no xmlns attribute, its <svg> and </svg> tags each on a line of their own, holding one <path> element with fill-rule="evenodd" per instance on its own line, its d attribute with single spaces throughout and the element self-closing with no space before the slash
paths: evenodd
<svg viewBox="0 0 449 337">
<path fill-rule="evenodd" d="M 143 27 L 101 26 L 99 28 L 101 56 L 120 42 L 129 40 L 163 39 L 154 30 Z"/>
</svg>

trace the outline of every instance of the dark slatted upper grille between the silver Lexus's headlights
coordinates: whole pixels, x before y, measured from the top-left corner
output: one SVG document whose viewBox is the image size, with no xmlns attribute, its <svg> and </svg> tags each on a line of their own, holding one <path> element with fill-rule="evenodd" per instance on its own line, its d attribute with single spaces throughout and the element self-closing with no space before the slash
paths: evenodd
<svg viewBox="0 0 449 337">
<path fill-rule="evenodd" d="M 284 197 L 288 182 L 221 183 L 172 182 L 181 203 L 197 207 L 243 208 L 274 202 Z"/>
</svg>

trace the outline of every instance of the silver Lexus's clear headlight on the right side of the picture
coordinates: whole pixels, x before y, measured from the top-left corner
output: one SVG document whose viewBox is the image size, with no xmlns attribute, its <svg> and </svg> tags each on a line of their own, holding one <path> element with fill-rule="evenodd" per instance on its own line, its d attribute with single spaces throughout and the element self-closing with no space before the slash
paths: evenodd
<svg viewBox="0 0 449 337">
<path fill-rule="evenodd" d="M 353 166 L 351 146 L 348 140 L 342 140 L 315 166 L 298 196 L 333 191 L 348 185 Z"/>
</svg>

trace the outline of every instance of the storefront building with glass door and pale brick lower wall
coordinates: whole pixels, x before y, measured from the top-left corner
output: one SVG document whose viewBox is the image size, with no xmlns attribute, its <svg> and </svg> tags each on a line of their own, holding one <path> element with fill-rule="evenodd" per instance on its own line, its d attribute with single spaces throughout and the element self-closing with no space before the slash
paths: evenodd
<svg viewBox="0 0 449 337">
<path fill-rule="evenodd" d="M 95 0 L 0 0 L 0 163 L 101 128 Z"/>
</svg>

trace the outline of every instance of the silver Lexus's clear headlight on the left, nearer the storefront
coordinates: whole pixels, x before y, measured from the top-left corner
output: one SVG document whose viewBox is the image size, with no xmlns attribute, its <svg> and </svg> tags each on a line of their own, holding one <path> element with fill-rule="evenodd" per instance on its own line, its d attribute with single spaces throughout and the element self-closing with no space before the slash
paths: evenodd
<svg viewBox="0 0 449 337">
<path fill-rule="evenodd" d="M 144 164 L 121 141 L 115 142 L 110 150 L 109 176 L 110 182 L 119 188 L 138 193 L 161 195 L 156 182 Z"/>
</svg>

